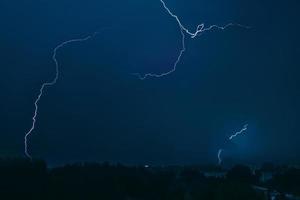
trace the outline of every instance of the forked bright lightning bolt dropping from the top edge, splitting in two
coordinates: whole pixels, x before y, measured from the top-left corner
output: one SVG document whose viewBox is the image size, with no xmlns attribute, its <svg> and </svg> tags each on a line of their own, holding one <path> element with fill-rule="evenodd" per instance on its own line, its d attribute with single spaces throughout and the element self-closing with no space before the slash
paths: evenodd
<svg viewBox="0 0 300 200">
<path fill-rule="evenodd" d="M 176 68 L 177 68 L 177 65 L 178 63 L 180 62 L 181 60 L 181 57 L 182 55 L 184 54 L 184 52 L 186 51 L 186 47 L 185 47 L 185 40 L 186 40 L 186 34 L 188 36 L 190 36 L 192 39 L 194 39 L 195 37 L 197 37 L 198 35 L 201 35 L 203 34 L 204 32 L 207 32 L 207 31 L 211 31 L 211 30 L 214 30 L 214 29 L 219 29 L 219 30 L 225 30 L 226 28 L 230 27 L 230 26 L 238 26 L 238 27 L 241 27 L 241 28 L 246 28 L 246 29 L 249 29 L 250 27 L 249 26 L 245 26 L 245 25 L 242 25 L 242 24 L 237 24 L 237 23 L 229 23 L 225 26 L 219 26 L 219 25 L 211 25 L 209 27 L 205 27 L 204 23 L 202 24 L 199 24 L 197 25 L 196 27 L 196 30 L 195 32 L 192 32 L 190 31 L 189 29 L 187 29 L 180 21 L 179 17 L 177 15 L 175 15 L 166 5 L 166 3 L 163 1 L 163 0 L 160 0 L 163 8 L 166 10 L 166 12 L 171 16 L 173 17 L 177 23 L 178 23 L 178 26 L 180 28 L 180 32 L 181 32 L 181 44 L 182 44 L 182 47 L 181 47 L 181 50 L 179 51 L 179 54 L 178 54 L 178 57 L 176 59 L 176 61 L 174 62 L 171 70 L 167 71 L 167 72 L 164 72 L 164 73 L 161 73 L 161 74 L 155 74 L 155 73 L 146 73 L 144 75 L 140 74 L 140 73 L 132 73 L 132 75 L 135 75 L 137 76 L 139 79 L 141 80 L 144 80 L 146 79 L 147 77 L 155 77 L 155 78 L 160 78 L 160 77 L 163 77 L 163 76 L 167 76 L 171 73 L 173 73 L 174 71 L 176 71 Z"/>
</svg>

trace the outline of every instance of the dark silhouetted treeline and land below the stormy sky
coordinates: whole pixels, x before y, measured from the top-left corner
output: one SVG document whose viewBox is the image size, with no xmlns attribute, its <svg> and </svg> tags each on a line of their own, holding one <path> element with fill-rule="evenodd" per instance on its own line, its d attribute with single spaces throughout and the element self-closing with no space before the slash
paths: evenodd
<svg viewBox="0 0 300 200">
<path fill-rule="evenodd" d="M 0 160 L 2 200 L 269 200 L 297 199 L 300 170 L 265 164 L 126 167 L 74 164 L 47 168 L 42 161 Z"/>
</svg>

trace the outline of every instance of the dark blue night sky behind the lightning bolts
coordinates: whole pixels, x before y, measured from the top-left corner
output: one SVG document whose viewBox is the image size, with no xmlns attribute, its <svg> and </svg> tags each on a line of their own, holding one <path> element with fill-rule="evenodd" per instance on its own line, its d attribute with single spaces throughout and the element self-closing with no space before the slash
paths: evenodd
<svg viewBox="0 0 300 200">
<path fill-rule="evenodd" d="M 182 23 L 230 27 L 195 39 L 177 70 L 144 81 L 131 73 L 172 68 L 178 24 L 159 0 L 0 0 L 0 156 L 24 156 L 34 101 L 40 102 L 30 152 L 50 164 L 300 162 L 298 0 L 166 0 Z M 227 138 L 249 124 L 247 132 Z"/>
</svg>

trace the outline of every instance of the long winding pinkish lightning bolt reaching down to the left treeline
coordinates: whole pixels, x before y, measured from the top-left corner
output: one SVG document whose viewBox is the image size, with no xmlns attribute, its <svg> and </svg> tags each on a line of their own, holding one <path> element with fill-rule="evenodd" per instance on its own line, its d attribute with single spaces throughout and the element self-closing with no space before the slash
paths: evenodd
<svg viewBox="0 0 300 200">
<path fill-rule="evenodd" d="M 64 46 L 68 45 L 68 44 L 71 44 L 71 43 L 87 41 L 87 40 L 91 39 L 92 37 L 94 37 L 96 34 L 98 34 L 98 32 L 95 32 L 94 34 L 89 35 L 89 36 L 87 36 L 85 38 L 67 40 L 65 42 L 62 42 L 61 44 L 59 44 L 58 46 L 56 46 L 53 49 L 52 60 L 55 63 L 55 76 L 52 79 L 52 81 L 44 82 L 42 84 L 42 86 L 41 86 L 41 88 L 39 90 L 39 94 L 38 94 L 38 96 L 37 96 L 37 98 L 36 98 L 36 100 L 34 102 L 35 109 L 34 109 L 34 114 L 33 114 L 33 117 L 32 117 L 31 128 L 25 134 L 25 137 L 24 137 L 24 148 L 25 148 L 24 150 L 25 150 L 25 155 L 28 158 L 32 159 L 32 157 L 31 157 L 31 155 L 30 155 L 30 153 L 28 151 L 28 139 L 29 139 L 30 135 L 32 134 L 32 132 L 34 131 L 35 126 L 36 126 L 37 117 L 38 117 L 38 111 L 39 111 L 39 102 L 40 102 L 41 98 L 43 97 L 44 92 L 46 91 L 46 89 L 49 88 L 49 87 L 51 87 L 51 86 L 54 86 L 57 83 L 57 80 L 59 78 L 59 63 L 58 63 L 57 58 L 56 58 L 58 50 L 61 49 Z"/>
</svg>

